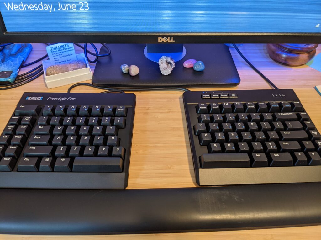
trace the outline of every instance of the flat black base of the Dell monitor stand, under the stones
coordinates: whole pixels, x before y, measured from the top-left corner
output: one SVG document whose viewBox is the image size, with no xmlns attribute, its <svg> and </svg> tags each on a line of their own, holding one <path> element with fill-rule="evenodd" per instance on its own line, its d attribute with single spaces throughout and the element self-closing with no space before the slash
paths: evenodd
<svg viewBox="0 0 321 240">
<path fill-rule="evenodd" d="M 92 77 L 96 86 L 113 87 L 157 87 L 157 86 L 199 86 L 199 85 L 237 85 L 240 83 L 238 71 L 225 44 L 184 44 L 186 55 L 175 62 L 172 73 L 160 73 L 158 62 L 144 55 L 146 44 L 108 44 L 111 54 L 99 58 Z M 105 48 L 100 54 L 106 53 Z M 170 56 L 170 53 L 167 54 Z M 197 72 L 185 68 L 187 59 L 201 60 L 205 69 Z M 130 76 L 120 70 L 122 64 L 136 65 L 139 74 Z"/>
</svg>

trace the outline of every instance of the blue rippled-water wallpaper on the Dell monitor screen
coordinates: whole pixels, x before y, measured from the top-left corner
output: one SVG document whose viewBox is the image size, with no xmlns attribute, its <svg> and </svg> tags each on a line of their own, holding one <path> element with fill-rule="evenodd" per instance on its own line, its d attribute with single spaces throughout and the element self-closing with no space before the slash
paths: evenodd
<svg viewBox="0 0 321 240">
<path fill-rule="evenodd" d="M 321 32 L 321 0 L 11 0 L 0 11 L 9 32 Z"/>
</svg>

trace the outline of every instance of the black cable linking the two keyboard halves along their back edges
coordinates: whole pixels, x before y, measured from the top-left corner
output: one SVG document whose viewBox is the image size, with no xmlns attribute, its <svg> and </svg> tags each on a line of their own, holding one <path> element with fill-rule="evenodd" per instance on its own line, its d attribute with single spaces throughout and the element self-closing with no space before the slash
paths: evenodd
<svg viewBox="0 0 321 240">
<path fill-rule="evenodd" d="M 190 91 L 187 88 L 182 88 L 182 87 L 110 88 L 110 87 L 95 86 L 95 85 L 90 84 L 90 83 L 76 83 L 74 85 L 71 85 L 68 88 L 67 92 L 70 93 L 73 88 L 78 87 L 78 86 L 89 86 L 89 87 L 108 90 L 108 91 L 113 91 L 113 92 L 120 90 L 122 93 L 125 93 L 124 91 L 133 92 L 133 91 L 157 91 L 157 90 L 178 90 L 178 91 L 184 91 L 184 92 Z M 105 91 L 105 92 L 108 92 L 108 91 Z M 101 93 L 105 93 L 105 92 L 101 92 Z"/>
</svg>

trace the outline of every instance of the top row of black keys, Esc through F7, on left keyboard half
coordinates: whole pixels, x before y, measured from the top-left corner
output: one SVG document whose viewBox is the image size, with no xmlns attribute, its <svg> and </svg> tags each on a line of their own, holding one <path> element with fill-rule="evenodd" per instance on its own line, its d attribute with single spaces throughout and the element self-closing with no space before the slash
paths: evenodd
<svg viewBox="0 0 321 240">
<path fill-rule="evenodd" d="M 18 105 L 15 116 L 38 116 L 41 108 L 38 105 Z M 42 116 L 127 116 L 125 106 L 89 106 L 89 105 L 45 105 Z"/>
</svg>

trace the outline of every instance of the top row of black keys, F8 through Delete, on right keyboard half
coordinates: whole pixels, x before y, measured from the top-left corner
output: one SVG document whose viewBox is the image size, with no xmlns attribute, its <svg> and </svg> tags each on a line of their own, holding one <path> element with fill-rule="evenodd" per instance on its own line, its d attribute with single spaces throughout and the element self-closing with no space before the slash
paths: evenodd
<svg viewBox="0 0 321 240">
<path fill-rule="evenodd" d="M 300 101 L 292 102 L 223 102 L 199 103 L 196 105 L 197 114 L 206 113 L 265 113 L 265 112 L 301 112 L 303 106 Z"/>
</svg>

